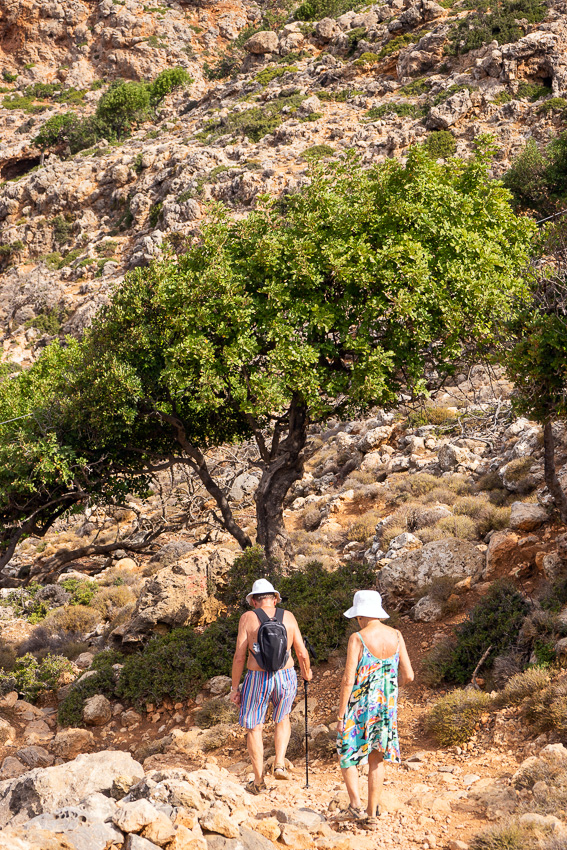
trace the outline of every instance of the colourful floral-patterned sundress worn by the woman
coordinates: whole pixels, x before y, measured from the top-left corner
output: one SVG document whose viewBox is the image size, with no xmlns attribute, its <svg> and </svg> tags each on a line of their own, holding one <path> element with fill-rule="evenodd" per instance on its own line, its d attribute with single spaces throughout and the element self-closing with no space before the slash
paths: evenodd
<svg viewBox="0 0 567 850">
<path fill-rule="evenodd" d="M 384 755 L 384 761 L 400 762 L 398 741 L 398 664 L 400 638 L 394 655 L 376 658 L 362 635 L 362 657 L 356 669 L 342 732 L 337 734 L 337 752 L 341 767 L 366 764 L 372 750 Z"/>
</svg>

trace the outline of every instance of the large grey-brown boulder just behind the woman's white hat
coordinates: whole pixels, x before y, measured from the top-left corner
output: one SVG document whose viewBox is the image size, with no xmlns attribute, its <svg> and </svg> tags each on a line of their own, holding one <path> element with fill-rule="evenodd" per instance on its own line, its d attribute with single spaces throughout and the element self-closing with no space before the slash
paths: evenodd
<svg viewBox="0 0 567 850">
<path fill-rule="evenodd" d="M 378 574 L 377 587 L 389 599 L 408 598 L 435 578 L 480 578 L 484 555 L 467 540 L 434 540 L 395 558 Z"/>
</svg>

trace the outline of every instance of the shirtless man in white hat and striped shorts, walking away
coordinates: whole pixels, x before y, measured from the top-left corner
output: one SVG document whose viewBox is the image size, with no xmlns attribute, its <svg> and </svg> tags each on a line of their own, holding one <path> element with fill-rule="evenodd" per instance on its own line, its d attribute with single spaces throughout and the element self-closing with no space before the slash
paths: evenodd
<svg viewBox="0 0 567 850">
<path fill-rule="evenodd" d="M 253 610 L 247 611 L 240 618 L 236 652 L 232 662 L 230 699 L 235 705 L 240 706 L 240 725 L 248 730 L 248 753 L 252 761 L 254 779 L 248 783 L 246 790 L 251 794 L 259 794 L 266 789 L 262 732 L 270 700 L 274 706 L 273 720 L 275 724 L 274 777 L 276 779 L 288 778 L 285 768 L 285 753 L 291 735 L 289 713 L 297 692 L 297 675 L 291 656 L 292 648 L 297 655 L 303 678 L 310 682 L 313 673 L 309 663 L 309 653 L 303 643 L 297 620 L 289 611 L 283 612 L 282 619 L 287 631 L 287 656 L 283 660 L 281 669 L 271 673 L 260 666 L 257 661 L 258 631 L 260 629 L 260 618 L 263 620 L 266 618 L 262 616 L 262 613 L 256 614 L 256 611 L 263 612 L 270 620 L 275 621 L 276 610 L 279 610 L 276 609 L 276 605 L 281 602 L 281 597 L 269 581 L 259 579 L 254 582 L 246 601 L 252 606 Z M 281 614 L 279 616 L 281 618 Z M 248 671 L 241 692 L 239 685 L 246 664 L 246 656 L 248 656 Z"/>
</svg>

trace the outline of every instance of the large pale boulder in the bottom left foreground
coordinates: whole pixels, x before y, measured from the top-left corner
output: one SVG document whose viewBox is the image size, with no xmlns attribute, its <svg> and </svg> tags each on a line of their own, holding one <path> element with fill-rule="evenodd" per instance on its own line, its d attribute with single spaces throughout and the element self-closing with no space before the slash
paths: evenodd
<svg viewBox="0 0 567 850">
<path fill-rule="evenodd" d="M 130 753 L 103 750 L 0 782 L 0 828 L 17 826 L 63 806 L 75 806 L 97 791 L 110 794 L 114 779 L 121 775 L 139 780 L 144 771 Z"/>
</svg>

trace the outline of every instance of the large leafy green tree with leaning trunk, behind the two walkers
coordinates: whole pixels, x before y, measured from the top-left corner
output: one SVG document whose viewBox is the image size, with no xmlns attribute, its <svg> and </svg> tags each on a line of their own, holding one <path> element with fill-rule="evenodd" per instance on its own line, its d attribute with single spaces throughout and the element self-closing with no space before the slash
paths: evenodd
<svg viewBox="0 0 567 850">
<path fill-rule="evenodd" d="M 205 452 L 253 437 L 257 539 L 288 558 L 283 501 L 309 424 L 426 392 L 490 346 L 521 297 L 535 228 L 489 159 L 348 159 L 245 220 L 218 210 L 187 253 L 134 270 L 82 340 L 32 367 L 58 444 L 128 480 L 187 464 L 245 548 Z"/>
</svg>

